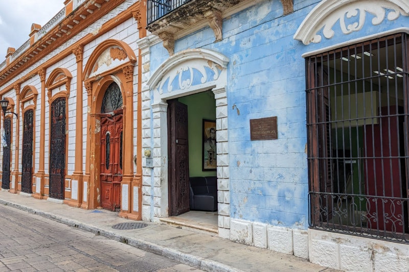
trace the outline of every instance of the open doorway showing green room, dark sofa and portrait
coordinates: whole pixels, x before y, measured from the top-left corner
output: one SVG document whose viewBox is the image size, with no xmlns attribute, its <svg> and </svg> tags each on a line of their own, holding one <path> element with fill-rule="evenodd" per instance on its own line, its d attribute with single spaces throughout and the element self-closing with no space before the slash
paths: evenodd
<svg viewBox="0 0 409 272">
<path fill-rule="evenodd" d="M 173 224 L 217 232 L 214 94 L 209 90 L 167 103 L 169 218 Z"/>
</svg>

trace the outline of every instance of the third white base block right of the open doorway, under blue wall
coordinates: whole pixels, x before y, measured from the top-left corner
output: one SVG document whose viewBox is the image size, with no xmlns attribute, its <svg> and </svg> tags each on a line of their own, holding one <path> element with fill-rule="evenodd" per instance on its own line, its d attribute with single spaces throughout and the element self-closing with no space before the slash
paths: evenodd
<svg viewBox="0 0 409 272">
<path fill-rule="evenodd" d="M 268 249 L 293 254 L 292 248 L 292 230 L 282 227 L 267 227 Z"/>
</svg>

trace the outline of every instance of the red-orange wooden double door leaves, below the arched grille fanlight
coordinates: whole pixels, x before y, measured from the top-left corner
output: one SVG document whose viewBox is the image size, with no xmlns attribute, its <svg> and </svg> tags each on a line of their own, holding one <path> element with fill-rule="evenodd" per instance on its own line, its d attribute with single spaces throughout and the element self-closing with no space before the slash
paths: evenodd
<svg viewBox="0 0 409 272">
<path fill-rule="evenodd" d="M 101 118 L 101 207 L 121 208 L 123 114 Z"/>
</svg>

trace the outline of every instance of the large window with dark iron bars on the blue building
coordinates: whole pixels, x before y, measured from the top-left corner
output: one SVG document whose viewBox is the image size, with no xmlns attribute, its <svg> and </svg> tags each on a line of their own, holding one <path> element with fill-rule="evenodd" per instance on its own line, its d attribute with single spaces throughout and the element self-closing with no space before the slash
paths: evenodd
<svg viewBox="0 0 409 272">
<path fill-rule="evenodd" d="M 408 35 L 308 57 L 310 227 L 409 242 Z"/>
</svg>

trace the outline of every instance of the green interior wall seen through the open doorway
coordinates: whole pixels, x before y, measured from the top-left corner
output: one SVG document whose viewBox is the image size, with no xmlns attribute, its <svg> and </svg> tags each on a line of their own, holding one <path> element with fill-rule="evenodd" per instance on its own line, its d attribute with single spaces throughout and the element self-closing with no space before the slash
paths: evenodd
<svg viewBox="0 0 409 272">
<path fill-rule="evenodd" d="M 202 121 L 216 120 L 216 103 L 212 91 L 180 97 L 188 105 L 189 176 L 216 176 L 216 171 L 202 171 Z"/>
</svg>

